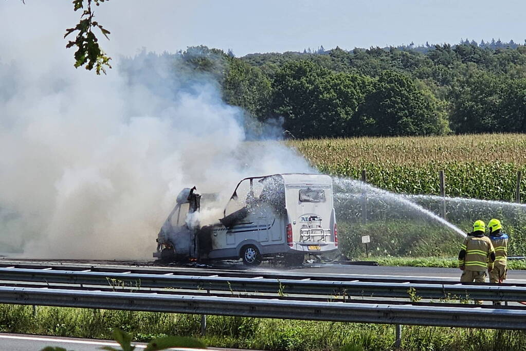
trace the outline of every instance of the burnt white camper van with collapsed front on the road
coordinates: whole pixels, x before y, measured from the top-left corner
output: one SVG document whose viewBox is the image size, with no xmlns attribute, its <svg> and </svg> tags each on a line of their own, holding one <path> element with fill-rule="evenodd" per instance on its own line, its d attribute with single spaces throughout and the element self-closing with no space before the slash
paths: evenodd
<svg viewBox="0 0 526 351">
<path fill-rule="evenodd" d="M 155 257 L 169 261 L 242 259 L 258 265 L 284 256 L 302 263 L 307 253 L 338 248 L 332 180 L 321 174 L 287 173 L 241 180 L 224 216 L 201 226 L 196 215 L 210 195 L 184 189 L 157 238 Z"/>
</svg>

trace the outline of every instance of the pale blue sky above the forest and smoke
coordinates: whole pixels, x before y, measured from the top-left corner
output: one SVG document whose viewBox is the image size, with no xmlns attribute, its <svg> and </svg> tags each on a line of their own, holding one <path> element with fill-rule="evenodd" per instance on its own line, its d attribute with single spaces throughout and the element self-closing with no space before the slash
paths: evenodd
<svg viewBox="0 0 526 351">
<path fill-rule="evenodd" d="M 39 16 L 44 6 L 53 23 Z M 68 0 L 1 1 L 0 12 L 12 21 L 13 33 L 21 30 L 17 36 L 31 26 L 41 36 L 58 30 L 61 46 L 62 28 L 74 25 L 79 15 Z M 112 56 L 141 47 L 175 51 L 199 44 L 232 48 L 242 56 L 319 45 L 458 43 L 460 38 L 523 43 L 525 15 L 524 0 L 110 0 L 96 8 L 99 22 L 112 31 L 110 42 L 102 42 Z"/>
</svg>

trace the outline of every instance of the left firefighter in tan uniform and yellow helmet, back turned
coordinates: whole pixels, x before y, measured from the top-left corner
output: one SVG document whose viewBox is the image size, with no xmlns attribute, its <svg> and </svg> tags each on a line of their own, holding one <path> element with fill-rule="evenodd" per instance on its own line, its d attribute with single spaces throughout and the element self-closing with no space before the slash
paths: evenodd
<svg viewBox="0 0 526 351">
<path fill-rule="evenodd" d="M 473 223 L 473 231 L 468 233 L 459 252 L 459 267 L 463 271 L 461 282 L 484 283 L 486 270 L 493 270 L 495 250 L 491 240 L 484 236 L 485 224 L 482 221 Z M 482 303 L 479 301 L 478 303 Z"/>
</svg>

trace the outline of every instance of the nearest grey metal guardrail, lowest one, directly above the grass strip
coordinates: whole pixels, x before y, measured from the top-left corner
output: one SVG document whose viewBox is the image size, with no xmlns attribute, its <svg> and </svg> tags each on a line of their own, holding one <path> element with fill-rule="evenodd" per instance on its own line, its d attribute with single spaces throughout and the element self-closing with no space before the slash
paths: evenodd
<svg viewBox="0 0 526 351">
<path fill-rule="evenodd" d="M 0 287 L 0 303 L 240 317 L 526 329 L 526 311 Z"/>
</svg>

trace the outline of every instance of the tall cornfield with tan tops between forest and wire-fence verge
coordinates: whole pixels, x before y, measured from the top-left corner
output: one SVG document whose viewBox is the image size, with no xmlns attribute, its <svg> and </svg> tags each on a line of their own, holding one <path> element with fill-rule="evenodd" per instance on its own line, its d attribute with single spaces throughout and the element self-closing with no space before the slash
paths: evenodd
<svg viewBox="0 0 526 351">
<path fill-rule="evenodd" d="M 324 173 L 360 179 L 365 169 L 370 184 L 397 193 L 439 194 L 444 170 L 450 197 L 513 201 L 517 171 L 526 171 L 526 135 L 518 134 L 287 143 Z"/>
</svg>

